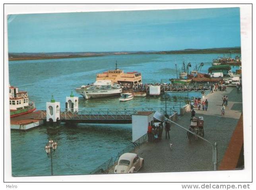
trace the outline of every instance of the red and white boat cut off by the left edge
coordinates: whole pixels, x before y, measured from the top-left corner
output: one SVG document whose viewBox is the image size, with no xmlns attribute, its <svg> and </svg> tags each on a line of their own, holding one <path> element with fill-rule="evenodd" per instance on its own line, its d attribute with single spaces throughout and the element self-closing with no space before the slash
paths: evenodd
<svg viewBox="0 0 256 190">
<path fill-rule="evenodd" d="M 27 91 L 19 91 L 18 87 L 9 85 L 10 117 L 31 113 L 36 110 L 35 104 L 29 102 Z"/>
</svg>

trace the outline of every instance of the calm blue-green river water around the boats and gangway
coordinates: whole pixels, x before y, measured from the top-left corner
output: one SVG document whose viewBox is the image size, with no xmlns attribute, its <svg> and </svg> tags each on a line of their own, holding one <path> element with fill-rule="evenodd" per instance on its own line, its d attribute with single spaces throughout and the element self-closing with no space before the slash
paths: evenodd
<svg viewBox="0 0 256 190">
<path fill-rule="evenodd" d="M 9 62 L 10 84 L 27 90 L 37 109 L 45 110 L 51 94 L 65 107 L 65 98 L 76 87 L 92 83 L 96 74 L 115 68 L 142 72 L 144 83 L 167 82 L 175 78 L 175 63 L 190 62 L 192 68 L 204 62 L 201 72 L 208 72 L 213 58 L 218 54 L 178 55 L 119 55 L 90 58 L 52 60 L 25 60 Z M 233 55 L 235 56 L 235 55 Z M 233 68 L 235 71 L 237 68 Z M 190 93 L 190 96 L 198 96 Z M 79 95 L 78 95 L 79 96 Z M 187 94 L 174 93 L 168 106 L 186 100 Z M 118 98 L 79 99 L 79 108 L 139 108 L 165 107 L 165 99 L 158 97 L 134 98 L 120 103 Z M 53 155 L 53 172 L 61 174 L 86 174 L 104 163 L 132 140 L 131 124 L 79 124 L 58 129 L 42 126 L 29 132 L 11 131 L 12 173 L 14 176 L 50 175 L 50 158 L 44 150 L 48 139 L 58 142 Z"/>
</svg>

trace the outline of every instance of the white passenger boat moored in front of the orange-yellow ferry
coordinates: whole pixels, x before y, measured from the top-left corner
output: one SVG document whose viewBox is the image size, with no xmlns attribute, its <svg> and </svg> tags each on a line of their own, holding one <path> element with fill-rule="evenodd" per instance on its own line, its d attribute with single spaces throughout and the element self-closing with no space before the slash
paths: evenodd
<svg viewBox="0 0 256 190">
<path fill-rule="evenodd" d="M 82 85 L 76 88 L 76 92 L 85 99 L 92 99 L 120 95 L 122 88 L 110 80 L 98 80 L 93 85 Z"/>
</svg>

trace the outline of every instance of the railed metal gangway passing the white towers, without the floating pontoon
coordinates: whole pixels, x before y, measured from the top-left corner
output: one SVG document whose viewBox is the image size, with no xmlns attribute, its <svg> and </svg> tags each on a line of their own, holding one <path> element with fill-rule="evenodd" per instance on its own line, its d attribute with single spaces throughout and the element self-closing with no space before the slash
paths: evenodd
<svg viewBox="0 0 256 190">
<path fill-rule="evenodd" d="M 105 123 L 105 124 L 128 124 L 132 123 L 132 115 L 138 112 L 163 112 L 171 115 L 179 111 L 180 106 L 162 108 L 124 108 L 124 109 L 79 109 L 75 111 L 60 112 L 60 120 L 70 123 Z M 35 119 L 46 120 L 46 111 L 41 111 Z"/>
</svg>

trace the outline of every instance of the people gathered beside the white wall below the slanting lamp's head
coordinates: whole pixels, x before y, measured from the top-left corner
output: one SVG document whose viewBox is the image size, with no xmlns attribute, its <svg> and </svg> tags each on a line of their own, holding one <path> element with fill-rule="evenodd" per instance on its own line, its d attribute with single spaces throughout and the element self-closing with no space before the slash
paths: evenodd
<svg viewBox="0 0 256 190">
<path fill-rule="evenodd" d="M 171 124 L 169 122 L 160 122 L 157 126 L 153 124 L 147 127 L 148 142 L 159 142 L 162 139 L 165 129 L 165 139 L 170 139 Z"/>
</svg>

